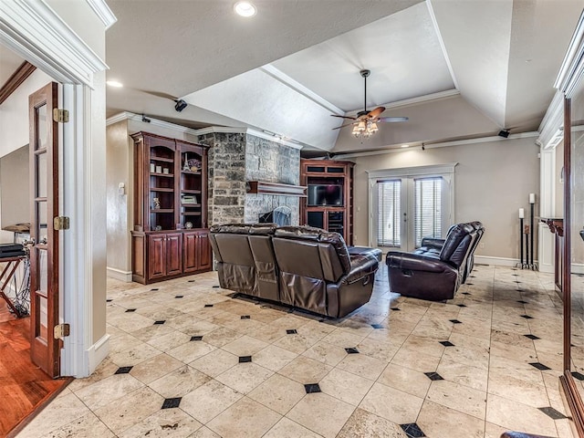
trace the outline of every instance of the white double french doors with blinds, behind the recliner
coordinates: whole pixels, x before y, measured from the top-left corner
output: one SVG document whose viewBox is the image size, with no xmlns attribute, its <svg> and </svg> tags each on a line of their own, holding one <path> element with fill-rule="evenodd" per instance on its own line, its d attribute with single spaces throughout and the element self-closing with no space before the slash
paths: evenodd
<svg viewBox="0 0 584 438">
<path fill-rule="evenodd" d="M 412 251 L 423 237 L 443 237 L 451 221 L 450 178 L 443 175 L 376 179 L 371 190 L 370 245 Z"/>
</svg>

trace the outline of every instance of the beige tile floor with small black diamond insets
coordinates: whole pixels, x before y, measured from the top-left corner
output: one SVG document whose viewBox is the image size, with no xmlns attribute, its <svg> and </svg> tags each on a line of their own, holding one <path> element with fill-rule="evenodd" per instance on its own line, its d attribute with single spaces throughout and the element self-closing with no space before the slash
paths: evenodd
<svg viewBox="0 0 584 438">
<path fill-rule="evenodd" d="M 383 270 L 340 320 L 217 284 L 110 280 L 110 356 L 18 436 L 572 436 L 550 275 L 475 266 L 444 304 L 391 294 Z"/>
</svg>

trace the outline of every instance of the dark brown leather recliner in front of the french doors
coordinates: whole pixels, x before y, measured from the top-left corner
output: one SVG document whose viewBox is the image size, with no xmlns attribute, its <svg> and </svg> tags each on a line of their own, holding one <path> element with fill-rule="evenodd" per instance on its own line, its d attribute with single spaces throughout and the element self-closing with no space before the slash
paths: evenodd
<svg viewBox="0 0 584 438">
<path fill-rule="evenodd" d="M 391 292 L 404 297 L 452 299 L 464 277 L 467 257 L 476 239 L 471 224 L 456 224 L 438 255 L 389 252 L 386 256 Z"/>
</svg>

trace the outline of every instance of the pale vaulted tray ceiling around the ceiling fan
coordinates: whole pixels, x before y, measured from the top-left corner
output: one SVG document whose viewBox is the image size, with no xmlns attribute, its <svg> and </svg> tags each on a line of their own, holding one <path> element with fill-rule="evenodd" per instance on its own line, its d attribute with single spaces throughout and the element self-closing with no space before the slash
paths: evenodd
<svg viewBox="0 0 584 438">
<path fill-rule="evenodd" d="M 108 116 L 362 151 L 537 130 L 584 0 L 108 0 Z M 4 64 L 4 56 L 2 59 Z M 407 116 L 360 142 L 331 114 Z M 3 70 L 4 72 L 5 70 Z M 173 99 L 189 106 L 174 110 Z"/>
</svg>

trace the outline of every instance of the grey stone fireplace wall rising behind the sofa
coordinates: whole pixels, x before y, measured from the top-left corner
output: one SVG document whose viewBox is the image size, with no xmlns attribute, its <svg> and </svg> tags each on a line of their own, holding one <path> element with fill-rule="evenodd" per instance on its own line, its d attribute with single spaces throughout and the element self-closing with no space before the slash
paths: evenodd
<svg viewBox="0 0 584 438">
<path fill-rule="evenodd" d="M 299 198 L 276 194 L 246 193 L 246 182 L 263 181 L 297 185 L 300 150 L 249 132 L 209 132 L 199 137 L 209 150 L 209 225 L 255 224 L 259 216 L 276 207 L 291 210 L 291 224 L 298 224 Z"/>
</svg>

